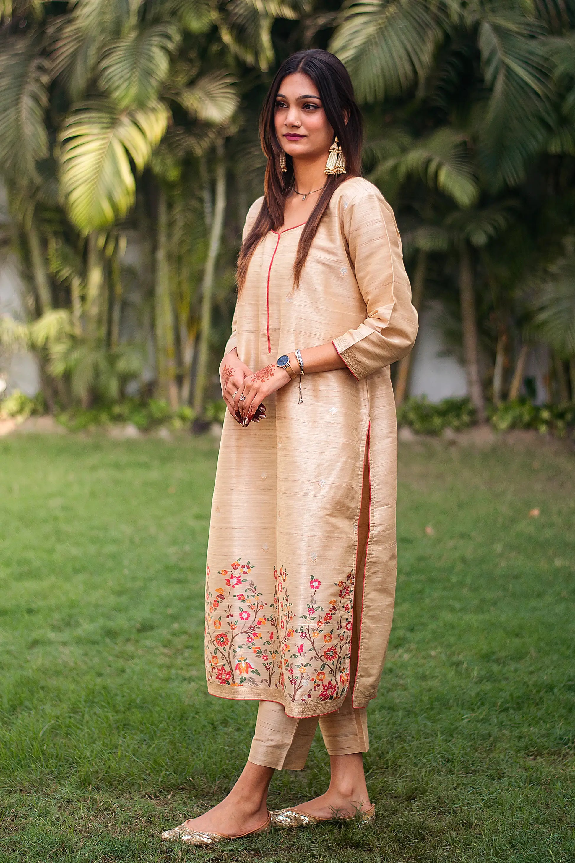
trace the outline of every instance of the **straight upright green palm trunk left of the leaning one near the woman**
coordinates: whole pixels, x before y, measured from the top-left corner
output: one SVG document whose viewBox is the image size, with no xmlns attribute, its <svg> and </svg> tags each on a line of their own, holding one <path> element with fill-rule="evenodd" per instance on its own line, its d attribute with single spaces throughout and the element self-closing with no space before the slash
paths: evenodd
<svg viewBox="0 0 575 863">
<path fill-rule="evenodd" d="M 158 187 L 158 216 L 156 225 L 154 328 L 156 334 L 156 368 L 158 394 L 166 399 L 172 410 L 178 407 L 176 387 L 176 350 L 173 334 L 170 273 L 167 260 L 168 204 L 166 192 Z"/>
</svg>

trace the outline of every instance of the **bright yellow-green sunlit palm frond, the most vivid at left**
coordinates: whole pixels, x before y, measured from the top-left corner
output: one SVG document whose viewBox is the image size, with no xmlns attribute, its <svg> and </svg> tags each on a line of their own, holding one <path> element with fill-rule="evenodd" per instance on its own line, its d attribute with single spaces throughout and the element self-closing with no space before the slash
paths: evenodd
<svg viewBox="0 0 575 863">
<path fill-rule="evenodd" d="M 59 165 L 66 207 L 78 230 L 101 229 L 126 215 L 135 194 L 129 159 L 143 170 L 167 119 L 159 102 L 122 113 L 93 98 L 72 109 L 59 133 Z"/>
</svg>

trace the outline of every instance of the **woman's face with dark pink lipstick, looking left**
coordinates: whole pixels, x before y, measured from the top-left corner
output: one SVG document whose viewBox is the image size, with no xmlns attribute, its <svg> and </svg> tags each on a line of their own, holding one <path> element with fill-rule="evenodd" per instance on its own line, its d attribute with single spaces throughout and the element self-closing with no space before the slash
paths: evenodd
<svg viewBox="0 0 575 863">
<path fill-rule="evenodd" d="M 316 85 L 303 72 L 288 75 L 279 85 L 274 120 L 279 146 L 287 154 L 295 159 L 327 156 L 334 129 Z"/>
</svg>

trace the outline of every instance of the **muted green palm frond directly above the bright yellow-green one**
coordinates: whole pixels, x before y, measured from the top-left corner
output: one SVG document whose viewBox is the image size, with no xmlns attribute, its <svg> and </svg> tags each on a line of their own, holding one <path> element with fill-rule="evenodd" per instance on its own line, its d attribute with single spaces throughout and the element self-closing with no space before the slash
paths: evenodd
<svg viewBox="0 0 575 863">
<path fill-rule="evenodd" d="M 157 98 L 180 36 L 171 22 L 134 28 L 112 42 L 98 64 L 98 84 L 119 108 L 145 108 Z"/>
</svg>

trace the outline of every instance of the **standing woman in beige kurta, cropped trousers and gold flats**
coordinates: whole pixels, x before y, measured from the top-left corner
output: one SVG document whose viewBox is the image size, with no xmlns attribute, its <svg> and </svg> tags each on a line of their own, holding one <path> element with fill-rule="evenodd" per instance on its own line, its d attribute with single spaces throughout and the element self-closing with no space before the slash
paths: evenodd
<svg viewBox="0 0 575 863">
<path fill-rule="evenodd" d="M 390 364 L 411 349 L 417 315 L 391 208 L 360 176 L 361 117 L 340 60 L 285 60 L 261 141 L 266 194 L 247 214 L 220 369 L 229 415 L 205 638 L 209 692 L 259 710 L 228 797 L 163 834 L 190 844 L 374 814 L 362 753 L 396 580 Z M 318 720 L 328 791 L 271 818 L 272 774 L 303 768 Z"/>
</svg>

